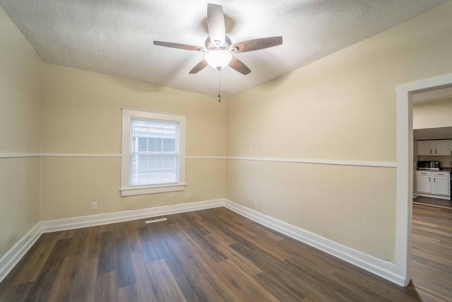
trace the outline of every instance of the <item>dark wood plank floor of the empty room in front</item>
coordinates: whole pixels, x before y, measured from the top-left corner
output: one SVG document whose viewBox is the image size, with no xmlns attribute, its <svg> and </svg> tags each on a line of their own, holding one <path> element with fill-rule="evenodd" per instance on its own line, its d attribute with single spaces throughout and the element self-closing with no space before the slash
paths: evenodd
<svg viewBox="0 0 452 302">
<path fill-rule="evenodd" d="M 0 301 L 441 301 L 225 208 L 167 219 L 44 234 Z"/>
</svg>

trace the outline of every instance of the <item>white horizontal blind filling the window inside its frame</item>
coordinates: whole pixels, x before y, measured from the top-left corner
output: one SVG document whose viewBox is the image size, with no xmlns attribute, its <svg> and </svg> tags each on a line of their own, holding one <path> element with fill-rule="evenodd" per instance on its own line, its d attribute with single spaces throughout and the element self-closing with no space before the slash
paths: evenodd
<svg viewBox="0 0 452 302">
<path fill-rule="evenodd" d="M 129 185 L 179 181 L 179 124 L 131 119 Z"/>
</svg>

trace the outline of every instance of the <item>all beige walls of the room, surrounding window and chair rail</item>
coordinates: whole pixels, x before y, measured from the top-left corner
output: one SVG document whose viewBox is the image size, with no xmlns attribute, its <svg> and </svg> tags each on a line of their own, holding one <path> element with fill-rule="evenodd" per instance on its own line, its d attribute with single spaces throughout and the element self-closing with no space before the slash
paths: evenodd
<svg viewBox="0 0 452 302">
<path fill-rule="evenodd" d="M 0 152 L 61 154 L 0 159 L 0 255 L 39 219 L 227 197 L 393 261 L 395 168 L 187 159 L 185 191 L 121 198 L 119 157 L 67 154 L 121 153 L 120 108 L 128 107 L 187 115 L 187 156 L 396 161 L 395 86 L 452 72 L 451 14 L 448 3 L 226 106 L 49 64 L 42 76 L 42 62 L 0 11 Z"/>
</svg>

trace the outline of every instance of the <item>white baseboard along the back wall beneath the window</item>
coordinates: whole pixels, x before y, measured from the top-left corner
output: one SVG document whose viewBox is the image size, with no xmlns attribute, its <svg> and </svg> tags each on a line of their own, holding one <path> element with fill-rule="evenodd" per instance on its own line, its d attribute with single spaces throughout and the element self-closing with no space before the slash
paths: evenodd
<svg viewBox="0 0 452 302">
<path fill-rule="evenodd" d="M 147 209 L 119 211 L 114 213 L 72 217 L 67 219 L 56 219 L 41 221 L 42 233 L 72 230 L 74 228 L 87 228 L 89 226 L 102 226 L 109 223 L 131 221 L 136 219 L 150 218 L 162 215 L 184 213 L 187 211 L 198 211 L 201 209 L 212 209 L 223 207 L 224 199 L 213 199 L 205 202 L 189 202 L 186 204 L 172 204 L 169 206 L 153 207 Z"/>
</svg>

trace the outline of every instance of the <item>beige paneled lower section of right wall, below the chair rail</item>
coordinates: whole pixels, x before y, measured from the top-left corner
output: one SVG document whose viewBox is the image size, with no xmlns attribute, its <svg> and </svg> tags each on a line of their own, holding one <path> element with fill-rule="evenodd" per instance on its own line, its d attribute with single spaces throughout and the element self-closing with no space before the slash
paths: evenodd
<svg viewBox="0 0 452 302">
<path fill-rule="evenodd" d="M 394 261 L 396 169 L 228 160 L 226 175 L 227 199 Z"/>
</svg>

